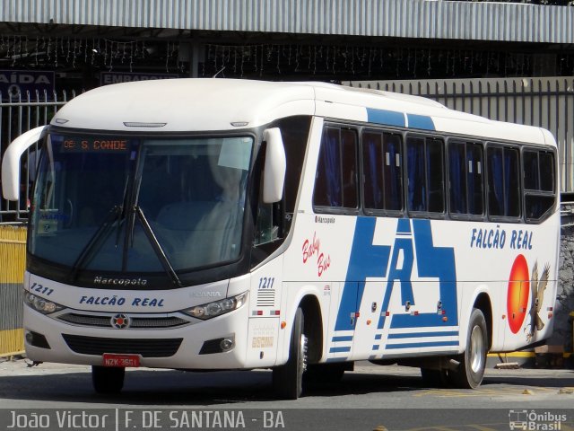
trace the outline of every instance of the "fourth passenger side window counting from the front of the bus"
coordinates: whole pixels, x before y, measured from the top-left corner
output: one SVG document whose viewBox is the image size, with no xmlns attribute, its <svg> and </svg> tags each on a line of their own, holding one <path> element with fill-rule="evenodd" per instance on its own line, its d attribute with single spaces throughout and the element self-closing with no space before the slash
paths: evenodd
<svg viewBox="0 0 574 431">
<path fill-rule="evenodd" d="M 449 143 L 448 183 L 451 215 L 483 215 L 482 144 L 457 141 Z"/>
</svg>

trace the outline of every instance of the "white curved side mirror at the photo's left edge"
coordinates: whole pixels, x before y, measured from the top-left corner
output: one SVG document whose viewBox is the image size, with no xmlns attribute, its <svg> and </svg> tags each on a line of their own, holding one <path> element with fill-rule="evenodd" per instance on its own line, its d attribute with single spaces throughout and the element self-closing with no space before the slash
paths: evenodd
<svg viewBox="0 0 574 431">
<path fill-rule="evenodd" d="M 31 145 L 38 142 L 42 132 L 48 126 L 32 128 L 12 141 L 2 159 L 2 193 L 7 200 L 20 198 L 20 159 Z"/>
</svg>

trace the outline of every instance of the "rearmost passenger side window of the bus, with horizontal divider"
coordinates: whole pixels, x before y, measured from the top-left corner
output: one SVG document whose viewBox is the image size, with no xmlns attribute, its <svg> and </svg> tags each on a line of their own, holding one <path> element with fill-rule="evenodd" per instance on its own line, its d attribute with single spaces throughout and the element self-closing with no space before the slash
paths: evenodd
<svg viewBox="0 0 574 431">
<path fill-rule="evenodd" d="M 526 221 L 540 220 L 556 201 L 554 193 L 554 154 L 523 152 Z"/>
</svg>

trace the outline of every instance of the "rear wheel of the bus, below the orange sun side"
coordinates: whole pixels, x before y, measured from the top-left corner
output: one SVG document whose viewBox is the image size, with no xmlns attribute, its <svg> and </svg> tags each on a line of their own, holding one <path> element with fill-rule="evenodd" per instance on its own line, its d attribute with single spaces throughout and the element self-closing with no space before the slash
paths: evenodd
<svg viewBox="0 0 574 431">
<path fill-rule="evenodd" d="M 468 323 L 465 353 L 456 357 L 460 363 L 457 370 L 449 371 L 448 377 L 457 388 L 475 389 L 483 382 L 488 350 L 488 332 L 484 314 L 473 309 Z"/>
</svg>

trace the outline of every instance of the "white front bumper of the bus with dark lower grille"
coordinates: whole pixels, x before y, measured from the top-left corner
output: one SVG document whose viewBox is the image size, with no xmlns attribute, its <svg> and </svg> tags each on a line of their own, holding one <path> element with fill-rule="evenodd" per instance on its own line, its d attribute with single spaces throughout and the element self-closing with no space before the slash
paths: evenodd
<svg viewBox="0 0 574 431">
<path fill-rule="evenodd" d="M 244 306 L 178 328 L 94 328 L 24 306 L 24 345 L 30 360 L 38 362 L 104 365 L 104 354 L 111 354 L 138 356 L 137 363 L 145 367 L 239 369 L 246 365 L 248 320 Z"/>
</svg>

